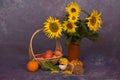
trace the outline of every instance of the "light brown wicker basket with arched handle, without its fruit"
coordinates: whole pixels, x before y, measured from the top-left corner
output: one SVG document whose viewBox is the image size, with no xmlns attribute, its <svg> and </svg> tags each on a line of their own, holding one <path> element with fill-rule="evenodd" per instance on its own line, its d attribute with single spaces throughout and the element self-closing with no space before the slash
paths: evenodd
<svg viewBox="0 0 120 80">
<path fill-rule="evenodd" d="M 37 33 L 42 32 L 42 31 L 43 31 L 43 29 L 38 29 L 38 30 L 36 30 L 36 31 L 32 34 L 32 36 L 31 36 L 30 45 L 29 45 L 29 59 L 30 59 L 30 60 L 35 60 L 35 61 L 37 61 L 39 64 L 41 64 L 41 63 L 43 63 L 43 62 L 45 62 L 45 61 L 48 61 L 48 60 L 50 60 L 50 61 L 52 61 L 54 64 L 56 64 L 56 63 L 58 62 L 58 60 L 59 60 L 63 55 L 57 56 L 57 57 L 54 57 L 54 58 L 46 58 L 46 59 L 44 59 L 44 60 L 41 60 L 40 58 L 36 58 L 36 56 L 38 56 L 38 55 L 43 55 L 44 53 L 35 54 L 34 51 L 33 51 L 33 47 L 32 47 L 33 39 L 34 39 L 34 37 L 37 35 Z M 56 39 L 56 48 L 55 48 L 55 50 L 60 50 L 60 51 L 62 52 L 62 47 L 61 47 L 61 44 L 60 44 L 59 39 Z"/>
</svg>

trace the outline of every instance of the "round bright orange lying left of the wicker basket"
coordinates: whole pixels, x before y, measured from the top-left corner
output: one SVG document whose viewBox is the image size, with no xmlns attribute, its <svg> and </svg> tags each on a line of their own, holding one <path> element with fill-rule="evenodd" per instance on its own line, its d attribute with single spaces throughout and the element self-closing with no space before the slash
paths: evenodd
<svg viewBox="0 0 120 80">
<path fill-rule="evenodd" d="M 27 70 L 30 72 L 36 72 L 38 68 L 39 68 L 39 64 L 36 61 L 31 60 L 27 63 Z"/>
</svg>

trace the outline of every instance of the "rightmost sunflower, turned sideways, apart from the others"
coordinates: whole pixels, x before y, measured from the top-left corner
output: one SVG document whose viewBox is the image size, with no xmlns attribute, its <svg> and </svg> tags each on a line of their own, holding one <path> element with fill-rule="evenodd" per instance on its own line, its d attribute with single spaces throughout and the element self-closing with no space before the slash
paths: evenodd
<svg viewBox="0 0 120 80">
<path fill-rule="evenodd" d="M 87 25 L 90 30 L 95 32 L 101 27 L 102 20 L 100 16 L 101 14 L 99 14 L 97 10 L 93 10 L 90 16 L 86 18 L 86 20 L 88 20 Z"/>
</svg>

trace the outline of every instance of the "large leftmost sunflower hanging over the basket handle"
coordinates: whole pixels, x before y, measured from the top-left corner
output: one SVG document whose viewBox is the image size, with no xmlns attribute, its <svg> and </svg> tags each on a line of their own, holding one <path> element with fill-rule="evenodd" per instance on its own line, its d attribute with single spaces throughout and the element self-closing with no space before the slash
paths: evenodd
<svg viewBox="0 0 120 80">
<path fill-rule="evenodd" d="M 59 38 L 62 35 L 62 26 L 58 19 L 50 16 L 44 23 L 43 31 L 50 39 Z"/>
</svg>

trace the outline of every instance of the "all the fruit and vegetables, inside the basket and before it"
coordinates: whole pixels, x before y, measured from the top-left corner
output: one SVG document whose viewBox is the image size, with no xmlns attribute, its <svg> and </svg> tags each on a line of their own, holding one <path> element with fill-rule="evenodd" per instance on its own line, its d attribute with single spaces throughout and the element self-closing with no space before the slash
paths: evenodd
<svg viewBox="0 0 120 80">
<path fill-rule="evenodd" d="M 27 70 L 30 72 L 36 72 L 40 68 L 42 70 L 49 70 L 51 73 L 58 73 L 60 70 L 63 74 L 81 75 L 84 73 L 84 64 L 80 60 L 72 60 L 69 62 L 67 58 L 62 57 L 58 61 L 58 66 L 49 60 L 49 58 L 54 58 L 61 55 L 62 52 L 59 50 L 56 50 L 55 52 L 52 50 L 47 50 L 44 54 L 36 56 L 36 58 L 39 58 L 41 60 L 47 60 L 40 64 L 35 60 L 31 60 L 27 63 Z"/>
</svg>

